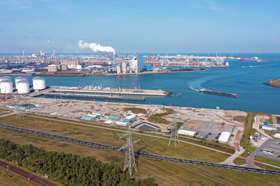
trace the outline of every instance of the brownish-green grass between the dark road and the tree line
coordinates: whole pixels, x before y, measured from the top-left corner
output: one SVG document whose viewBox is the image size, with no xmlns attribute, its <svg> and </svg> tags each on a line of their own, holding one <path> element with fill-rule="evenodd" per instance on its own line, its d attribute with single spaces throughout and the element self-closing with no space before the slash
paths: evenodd
<svg viewBox="0 0 280 186">
<path fill-rule="evenodd" d="M 46 150 L 73 153 L 82 156 L 95 156 L 102 162 L 113 162 L 123 166 L 123 153 L 99 148 L 91 148 L 66 141 L 38 137 L 34 134 L 24 134 L 0 128 L 0 138 L 14 141 L 18 144 L 33 144 Z M 169 148 L 172 148 L 171 146 Z M 173 148 L 174 149 L 174 148 Z M 189 153 L 186 151 L 185 153 Z M 207 154 L 208 155 L 208 154 Z M 177 162 L 162 162 L 137 158 L 139 173 L 133 174 L 134 178 L 155 178 L 158 185 L 279 185 L 278 176 L 234 171 L 210 166 L 181 164 Z M 17 184 L 15 184 L 17 185 Z"/>
</svg>

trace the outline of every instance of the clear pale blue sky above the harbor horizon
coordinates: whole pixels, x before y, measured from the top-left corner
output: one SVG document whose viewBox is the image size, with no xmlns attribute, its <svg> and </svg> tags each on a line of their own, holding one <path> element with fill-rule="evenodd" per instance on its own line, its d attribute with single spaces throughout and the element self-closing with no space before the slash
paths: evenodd
<svg viewBox="0 0 280 186">
<path fill-rule="evenodd" d="M 280 1 L 0 0 L 0 53 L 280 52 Z"/>
</svg>

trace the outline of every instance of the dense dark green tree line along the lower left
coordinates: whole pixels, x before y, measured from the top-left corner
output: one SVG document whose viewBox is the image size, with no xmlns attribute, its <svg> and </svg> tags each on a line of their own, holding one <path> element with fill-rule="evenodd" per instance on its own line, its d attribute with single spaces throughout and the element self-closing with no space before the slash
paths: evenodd
<svg viewBox="0 0 280 186">
<path fill-rule="evenodd" d="M 131 179 L 116 164 L 105 164 L 94 157 L 46 151 L 32 145 L 19 146 L 6 139 L 0 139 L 0 158 L 31 167 L 63 185 L 156 185 L 153 178 Z"/>
</svg>

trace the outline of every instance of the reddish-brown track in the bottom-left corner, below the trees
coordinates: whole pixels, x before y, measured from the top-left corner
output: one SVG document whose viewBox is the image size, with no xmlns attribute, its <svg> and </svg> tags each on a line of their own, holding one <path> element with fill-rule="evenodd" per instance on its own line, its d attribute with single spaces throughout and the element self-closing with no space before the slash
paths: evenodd
<svg viewBox="0 0 280 186">
<path fill-rule="evenodd" d="M 36 183 L 38 185 L 42 185 L 42 186 L 55 186 L 55 184 L 50 183 L 50 182 L 48 182 L 47 180 L 45 180 L 43 178 L 35 176 L 34 174 L 30 174 L 29 172 L 24 171 L 24 170 L 22 170 L 22 169 L 20 169 L 20 168 L 18 168 L 16 166 L 7 164 L 6 162 L 0 161 L 0 167 L 2 167 L 3 169 L 7 169 L 7 166 L 8 166 L 8 170 L 9 171 L 18 174 L 18 175 L 22 176 L 23 178 L 26 178 L 27 180 L 28 180 L 28 177 L 29 177 L 31 182 L 34 182 L 34 183 Z"/>
</svg>

